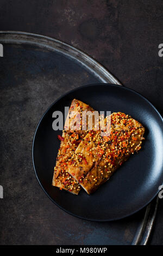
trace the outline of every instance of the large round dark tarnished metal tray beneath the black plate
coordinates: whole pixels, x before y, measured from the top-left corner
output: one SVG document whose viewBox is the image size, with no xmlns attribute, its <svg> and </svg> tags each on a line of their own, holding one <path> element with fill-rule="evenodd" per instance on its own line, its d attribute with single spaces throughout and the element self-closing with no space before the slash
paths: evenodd
<svg viewBox="0 0 163 256">
<path fill-rule="evenodd" d="M 32 139 L 47 107 L 61 94 L 82 84 L 118 81 L 95 60 L 59 41 L 2 33 L 0 42 L 4 44 L 0 64 L 3 120 L 0 134 L 1 185 L 5 195 L 0 201 L 0 243 L 146 243 L 155 217 L 155 201 L 152 208 L 148 206 L 121 221 L 80 220 L 61 211 L 46 197 L 32 167 Z M 68 47 L 66 52 L 65 46 Z"/>
</svg>

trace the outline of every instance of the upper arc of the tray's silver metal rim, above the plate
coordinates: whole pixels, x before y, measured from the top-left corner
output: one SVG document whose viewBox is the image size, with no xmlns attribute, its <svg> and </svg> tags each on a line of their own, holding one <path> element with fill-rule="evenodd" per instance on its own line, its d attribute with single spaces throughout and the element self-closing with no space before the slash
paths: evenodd
<svg viewBox="0 0 163 256">
<path fill-rule="evenodd" d="M 19 40 L 20 44 L 30 43 L 41 48 L 46 48 L 47 50 L 62 52 L 66 56 L 76 59 L 80 64 L 86 66 L 87 69 L 93 72 L 97 77 L 101 78 L 102 82 L 122 85 L 120 81 L 108 72 L 108 70 L 96 62 L 96 60 L 92 59 L 89 55 L 57 39 L 26 32 L 0 31 L 0 40 L 2 43 L 4 42 L 6 44 L 18 44 L 17 40 Z"/>
</svg>

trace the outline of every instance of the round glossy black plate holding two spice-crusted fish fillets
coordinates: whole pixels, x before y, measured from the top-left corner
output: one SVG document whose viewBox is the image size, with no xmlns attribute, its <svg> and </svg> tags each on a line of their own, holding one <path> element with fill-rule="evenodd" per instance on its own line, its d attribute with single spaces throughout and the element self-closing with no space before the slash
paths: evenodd
<svg viewBox="0 0 163 256">
<path fill-rule="evenodd" d="M 76 196 L 52 186 L 60 144 L 57 135 L 61 134 L 52 129 L 52 113 L 64 113 L 64 107 L 70 106 L 74 98 L 97 111 L 127 113 L 146 128 L 139 154 L 131 156 L 90 196 L 85 191 Z M 142 209 L 158 193 L 163 181 L 163 120 L 152 103 L 133 90 L 114 84 L 91 84 L 72 90 L 47 109 L 34 135 L 32 155 L 37 180 L 61 209 L 86 220 L 118 220 Z"/>
</svg>

